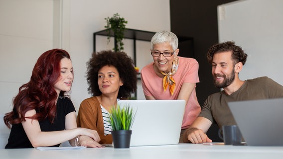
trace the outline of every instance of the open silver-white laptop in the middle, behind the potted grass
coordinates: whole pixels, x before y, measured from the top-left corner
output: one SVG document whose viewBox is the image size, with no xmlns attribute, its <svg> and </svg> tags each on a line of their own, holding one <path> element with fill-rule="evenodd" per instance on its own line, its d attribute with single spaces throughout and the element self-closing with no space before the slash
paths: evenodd
<svg viewBox="0 0 283 159">
<path fill-rule="evenodd" d="M 131 147 L 179 143 L 185 100 L 119 100 L 118 104 L 137 111 Z"/>
</svg>

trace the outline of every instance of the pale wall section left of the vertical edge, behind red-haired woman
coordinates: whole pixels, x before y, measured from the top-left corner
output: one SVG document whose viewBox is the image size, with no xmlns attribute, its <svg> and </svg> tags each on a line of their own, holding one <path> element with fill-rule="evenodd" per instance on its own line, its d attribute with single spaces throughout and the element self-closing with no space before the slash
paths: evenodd
<svg viewBox="0 0 283 159">
<path fill-rule="evenodd" d="M 0 113 L 53 45 L 52 0 L 0 0 Z"/>
</svg>

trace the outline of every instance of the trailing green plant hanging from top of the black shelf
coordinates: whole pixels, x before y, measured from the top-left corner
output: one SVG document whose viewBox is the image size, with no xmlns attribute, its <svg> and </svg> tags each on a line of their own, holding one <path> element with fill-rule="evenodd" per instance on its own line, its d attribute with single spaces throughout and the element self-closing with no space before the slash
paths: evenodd
<svg viewBox="0 0 283 159">
<path fill-rule="evenodd" d="M 115 52 L 124 50 L 124 31 L 126 30 L 126 21 L 123 17 L 120 17 L 118 13 L 115 13 L 111 18 L 104 18 L 106 20 L 106 25 L 104 26 L 107 30 L 107 40 L 110 42 L 111 31 L 114 33 L 114 48 Z"/>
</svg>

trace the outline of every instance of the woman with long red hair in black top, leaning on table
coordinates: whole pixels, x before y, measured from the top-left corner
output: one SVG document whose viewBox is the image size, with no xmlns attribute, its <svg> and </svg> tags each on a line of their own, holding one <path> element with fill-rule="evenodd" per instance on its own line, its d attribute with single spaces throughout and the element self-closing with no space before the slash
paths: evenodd
<svg viewBox="0 0 283 159">
<path fill-rule="evenodd" d="M 72 81 L 72 62 L 65 50 L 49 50 L 38 58 L 30 81 L 19 88 L 12 111 L 4 116 L 11 128 L 5 149 L 58 147 L 65 141 L 102 147 L 97 131 L 77 128 L 75 107 L 65 95 Z"/>
</svg>

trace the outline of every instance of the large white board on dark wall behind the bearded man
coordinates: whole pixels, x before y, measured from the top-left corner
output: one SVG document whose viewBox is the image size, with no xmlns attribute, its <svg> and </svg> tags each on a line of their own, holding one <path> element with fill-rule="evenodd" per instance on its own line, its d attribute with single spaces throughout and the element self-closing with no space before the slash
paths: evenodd
<svg viewBox="0 0 283 159">
<path fill-rule="evenodd" d="M 218 6 L 219 41 L 248 54 L 242 80 L 268 76 L 283 84 L 283 0 L 239 0 Z"/>
</svg>

